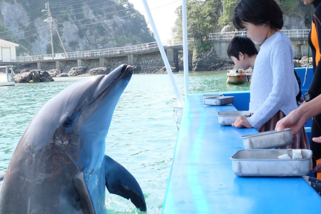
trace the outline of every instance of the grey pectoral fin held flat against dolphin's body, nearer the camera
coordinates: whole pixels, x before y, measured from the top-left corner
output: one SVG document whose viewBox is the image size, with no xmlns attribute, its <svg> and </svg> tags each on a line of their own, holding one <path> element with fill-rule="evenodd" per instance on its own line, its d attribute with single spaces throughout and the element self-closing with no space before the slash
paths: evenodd
<svg viewBox="0 0 321 214">
<path fill-rule="evenodd" d="M 82 171 L 75 175 L 74 184 L 79 195 L 82 212 L 84 214 L 96 214 L 87 185 L 85 183 L 85 176 Z"/>
</svg>

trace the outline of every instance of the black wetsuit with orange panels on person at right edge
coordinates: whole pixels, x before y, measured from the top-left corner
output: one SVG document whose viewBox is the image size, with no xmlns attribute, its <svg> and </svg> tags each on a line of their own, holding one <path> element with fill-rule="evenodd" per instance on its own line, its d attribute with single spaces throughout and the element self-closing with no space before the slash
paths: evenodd
<svg viewBox="0 0 321 214">
<path fill-rule="evenodd" d="M 309 102 L 321 94 L 321 0 L 301 0 L 304 4 L 313 4 L 315 11 L 312 17 L 311 30 L 308 42 L 312 50 L 313 79 L 308 92 L 304 95 L 304 102 Z M 311 150 L 313 151 L 314 166 L 321 162 L 321 143 L 312 140 L 313 137 L 321 136 L 321 114 L 313 117 L 311 130 Z M 313 167 L 314 167 L 313 166 Z M 317 178 L 321 179 L 321 173 L 317 173 Z"/>
</svg>

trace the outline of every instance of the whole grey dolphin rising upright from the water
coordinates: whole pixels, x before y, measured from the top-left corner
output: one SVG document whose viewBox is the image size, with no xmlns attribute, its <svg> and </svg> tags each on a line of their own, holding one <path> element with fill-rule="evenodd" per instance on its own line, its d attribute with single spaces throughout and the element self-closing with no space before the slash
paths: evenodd
<svg viewBox="0 0 321 214">
<path fill-rule="evenodd" d="M 10 160 L 0 214 L 107 213 L 105 190 L 146 211 L 143 192 L 123 166 L 105 155 L 105 138 L 133 68 L 79 81 L 33 117 Z"/>
</svg>

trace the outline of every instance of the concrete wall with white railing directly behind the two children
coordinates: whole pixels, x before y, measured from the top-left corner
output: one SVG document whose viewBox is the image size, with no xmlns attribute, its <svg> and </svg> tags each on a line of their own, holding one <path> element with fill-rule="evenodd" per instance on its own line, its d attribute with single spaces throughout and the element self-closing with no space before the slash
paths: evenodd
<svg viewBox="0 0 321 214">
<path fill-rule="evenodd" d="M 308 56 L 309 30 L 281 30 L 281 32 L 285 33 L 291 39 L 294 58 L 298 59 L 302 56 Z M 209 34 L 209 42 L 221 60 L 231 61 L 229 56 L 227 56 L 227 47 L 229 46 L 230 40 L 235 36 L 247 37 L 247 33 L 246 31 L 238 31 Z M 256 49 L 259 50 L 260 47 L 256 45 Z M 311 49 L 310 53 L 312 53 Z"/>
</svg>

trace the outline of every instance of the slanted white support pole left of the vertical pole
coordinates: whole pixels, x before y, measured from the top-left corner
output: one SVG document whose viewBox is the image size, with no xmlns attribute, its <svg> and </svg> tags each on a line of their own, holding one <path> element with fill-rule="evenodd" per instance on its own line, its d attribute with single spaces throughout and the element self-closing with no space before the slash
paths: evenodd
<svg viewBox="0 0 321 214">
<path fill-rule="evenodd" d="M 178 91 L 178 88 L 177 88 L 176 82 L 174 80 L 174 76 L 173 76 L 172 70 L 170 69 L 169 62 L 167 60 L 167 56 L 165 54 L 164 47 L 163 47 L 163 45 L 161 43 L 160 36 L 158 35 L 157 29 L 156 29 L 156 25 L 155 25 L 153 17 L 152 17 L 152 13 L 151 13 L 151 11 L 149 9 L 147 1 L 146 0 L 142 0 L 142 1 L 143 1 L 143 4 L 144 4 L 144 7 L 145 7 L 145 11 L 147 13 L 148 19 L 149 19 L 150 24 L 152 26 L 152 30 L 153 30 L 155 39 L 156 39 L 158 47 L 160 49 L 161 57 L 163 58 L 166 70 L 167 70 L 167 72 L 169 74 L 169 79 L 170 79 L 170 81 L 172 83 L 172 86 L 173 86 L 173 89 L 174 89 L 174 93 L 175 93 L 176 98 L 177 98 L 178 105 L 180 107 L 183 107 L 183 100 L 182 100 L 182 97 L 181 97 L 181 95 L 180 95 L 180 93 Z"/>
</svg>

